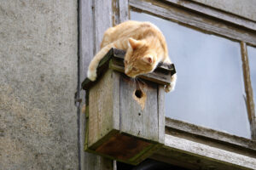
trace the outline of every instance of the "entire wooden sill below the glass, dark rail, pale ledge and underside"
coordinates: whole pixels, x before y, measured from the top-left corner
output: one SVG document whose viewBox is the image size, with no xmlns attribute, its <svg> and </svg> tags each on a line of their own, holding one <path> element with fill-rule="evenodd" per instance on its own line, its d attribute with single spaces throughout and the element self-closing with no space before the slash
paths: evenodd
<svg viewBox="0 0 256 170">
<path fill-rule="evenodd" d="M 256 169 L 256 141 L 166 118 L 165 145 L 150 158 L 190 169 Z"/>
</svg>

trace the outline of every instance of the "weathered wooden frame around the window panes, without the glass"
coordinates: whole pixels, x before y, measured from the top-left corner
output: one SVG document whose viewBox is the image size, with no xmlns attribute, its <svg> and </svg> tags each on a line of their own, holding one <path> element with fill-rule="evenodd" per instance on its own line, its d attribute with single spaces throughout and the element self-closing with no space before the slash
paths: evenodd
<svg viewBox="0 0 256 170">
<path fill-rule="evenodd" d="M 166 117 L 166 144 L 163 146 L 163 149 L 159 150 L 151 158 L 170 163 L 173 160 L 170 153 L 173 150 L 178 150 L 177 153 L 180 155 L 185 154 L 189 156 L 189 159 L 196 157 L 194 163 L 201 164 L 201 166 L 205 167 L 212 164 L 212 168 L 220 167 L 220 169 L 222 167 L 236 169 L 236 166 L 238 166 L 237 169 L 241 167 L 246 169 L 256 168 L 256 163 L 253 163 L 253 161 L 256 161 L 253 158 L 255 156 L 253 153 L 256 151 L 256 119 L 254 116 L 253 88 L 247 59 L 247 45 L 256 46 L 255 22 L 241 18 L 235 14 L 229 14 L 215 8 L 207 7 L 200 3 L 185 0 L 165 0 L 161 2 L 153 0 L 130 0 L 128 14 L 130 14 L 130 10 L 171 20 L 180 25 L 214 34 L 218 37 L 224 37 L 235 42 L 240 42 L 241 44 L 241 62 L 245 92 L 247 94 L 247 114 L 251 126 L 252 139 L 245 139 L 229 133 L 222 133 L 207 127 Z M 201 20 L 204 20 L 204 22 L 202 23 Z M 176 140 L 177 144 L 173 143 L 172 140 Z M 184 141 L 187 145 L 191 144 L 192 146 L 183 147 L 182 144 L 184 144 Z M 208 145 L 209 143 L 211 143 L 210 146 Z M 212 147 L 211 145 L 214 146 Z M 197 148 L 193 150 L 193 147 Z M 201 148 L 204 148 L 204 150 L 201 150 Z M 219 156 L 219 153 L 225 153 L 226 150 L 232 151 L 227 152 L 224 157 Z M 208 155 L 207 152 L 210 152 L 212 155 Z M 177 153 L 174 155 L 177 155 Z M 243 157 L 244 155 L 247 157 Z M 183 159 L 183 156 L 180 159 Z M 161 158 L 159 159 L 159 157 Z M 182 161 L 172 163 L 178 165 L 185 160 L 186 158 Z M 214 161 L 209 163 L 209 160 Z M 201 163 L 198 163 L 198 161 Z M 227 166 L 218 162 L 223 162 Z M 196 168 L 193 166 L 188 164 L 189 168 Z"/>
</svg>

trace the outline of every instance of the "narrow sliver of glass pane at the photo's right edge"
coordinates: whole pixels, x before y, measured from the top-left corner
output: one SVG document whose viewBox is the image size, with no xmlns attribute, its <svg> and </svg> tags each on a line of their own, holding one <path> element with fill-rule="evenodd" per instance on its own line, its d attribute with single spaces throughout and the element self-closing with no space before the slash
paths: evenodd
<svg viewBox="0 0 256 170">
<path fill-rule="evenodd" d="M 253 87 L 253 100 L 256 104 L 256 48 L 247 47 L 248 60 L 250 66 L 251 82 Z M 255 111 L 256 112 L 256 111 Z M 255 113 L 256 116 L 256 113 Z"/>
</svg>

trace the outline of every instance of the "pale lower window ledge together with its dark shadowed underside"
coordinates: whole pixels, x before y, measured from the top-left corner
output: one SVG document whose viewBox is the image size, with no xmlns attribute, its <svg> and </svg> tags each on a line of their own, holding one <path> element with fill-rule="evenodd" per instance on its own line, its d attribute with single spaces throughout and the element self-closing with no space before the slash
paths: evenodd
<svg viewBox="0 0 256 170">
<path fill-rule="evenodd" d="M 189 169 L 256 169 L 255 154 L 224 145 L 203 143 L 166 134 L 165 145 L 150 158 Z"/>
</svg>

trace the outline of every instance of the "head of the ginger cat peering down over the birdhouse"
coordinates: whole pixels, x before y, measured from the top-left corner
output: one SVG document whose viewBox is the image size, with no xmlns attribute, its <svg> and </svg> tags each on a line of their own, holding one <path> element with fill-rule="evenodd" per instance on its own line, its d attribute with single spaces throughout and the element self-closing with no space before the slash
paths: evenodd
<svg viewBox="0 0 256 170">
<path fill-rule="evenodd" d="M 145 40 L 129 38 L 129 48 L 125 54 L 125 74 L 129 77 L 154 71 L 157 54 Z"/>
</svg>

